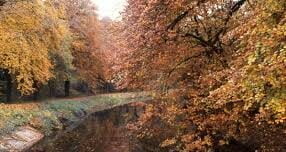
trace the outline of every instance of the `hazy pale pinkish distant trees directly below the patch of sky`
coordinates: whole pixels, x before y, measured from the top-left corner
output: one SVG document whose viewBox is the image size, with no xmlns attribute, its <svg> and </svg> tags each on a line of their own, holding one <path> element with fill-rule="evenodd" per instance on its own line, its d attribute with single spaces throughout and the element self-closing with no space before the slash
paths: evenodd
<svg viewBox="0 0 286 152">
<path fill-rule="evenodd" d="M 127 71 L 124 67 L 128 66 L 126 63 L 129 50 L 126 47 L 128 43 L 123 39 L 123 24 L 120 21 L 103 18 L 100 21 L 100 34 L 100 52 L 104 60 L 103 74 L 109 83 L 107 85 L 114 85 L 119 90 L 124 89 L 127 87 L 125 81 Z"/>
</svg>

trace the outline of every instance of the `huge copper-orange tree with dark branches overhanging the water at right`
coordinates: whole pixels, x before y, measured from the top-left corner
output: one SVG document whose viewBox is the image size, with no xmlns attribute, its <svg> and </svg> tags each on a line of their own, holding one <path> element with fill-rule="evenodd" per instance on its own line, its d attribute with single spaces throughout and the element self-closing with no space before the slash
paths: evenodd
<svg viewBox="0 0 286 152">
<path fill-rule="evenodd" d="M 146 151 L 283 151 L 284 1 L 128 2 L 126 81 L 159 95 L 133 126 Z"/>
</svg>

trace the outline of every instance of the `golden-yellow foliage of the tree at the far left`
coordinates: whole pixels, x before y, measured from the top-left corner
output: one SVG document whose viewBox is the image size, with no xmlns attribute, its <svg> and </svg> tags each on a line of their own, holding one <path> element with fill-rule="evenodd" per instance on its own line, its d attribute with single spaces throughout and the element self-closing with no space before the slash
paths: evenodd
<svg viewBox="0 0 286 152">
<path fill-rule="evenodd" d="M 60 48 L 69 33 L 56 9 L 42 1 L 5 4 L 0 14 L 0 68 L 15 76 L 23 95 L 53 77 L 49 51 Z"/>
</svg>

